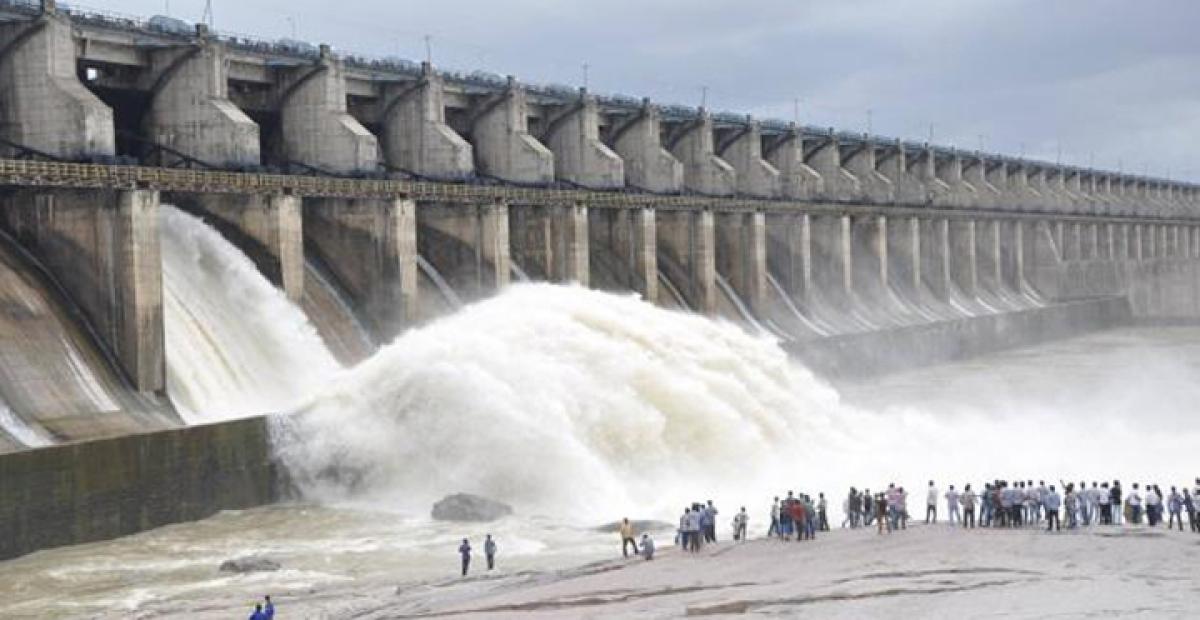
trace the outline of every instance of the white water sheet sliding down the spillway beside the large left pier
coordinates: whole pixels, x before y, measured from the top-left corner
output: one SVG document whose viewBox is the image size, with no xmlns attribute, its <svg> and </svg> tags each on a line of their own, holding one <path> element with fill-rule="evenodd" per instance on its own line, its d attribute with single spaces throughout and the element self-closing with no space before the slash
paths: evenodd
<svg viewBox="0 0 1200 620">
<path fill-rule="evenodd" d="M 290 410 L 341 371 L 245 254 L 188 213 L 160 213 L 167 393 L 188 422 Z"/>
</svg>

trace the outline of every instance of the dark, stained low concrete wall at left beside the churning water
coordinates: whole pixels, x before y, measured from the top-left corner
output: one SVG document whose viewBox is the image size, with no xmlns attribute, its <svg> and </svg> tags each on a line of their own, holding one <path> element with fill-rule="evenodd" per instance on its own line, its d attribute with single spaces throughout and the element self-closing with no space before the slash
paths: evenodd
<svg viewBox="0 0 1200 620">
<path fill-rule="evenodd" d="M 0 560 L 269 504 L 282 488 L 264 417 L 0 455 Z"/>
</svg>

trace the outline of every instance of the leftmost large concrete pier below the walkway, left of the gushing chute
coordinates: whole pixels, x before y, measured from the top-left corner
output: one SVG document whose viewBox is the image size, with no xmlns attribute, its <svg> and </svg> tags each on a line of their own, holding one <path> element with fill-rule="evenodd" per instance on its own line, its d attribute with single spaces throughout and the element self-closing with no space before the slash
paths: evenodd
<svg viewBox="0 0 1200 620">
<path fill-rule="evenodd" d="M 158 192 L 18 189 L 0 222 L 83 309 L 134 389 L 164 389 Z"/>
</svg>

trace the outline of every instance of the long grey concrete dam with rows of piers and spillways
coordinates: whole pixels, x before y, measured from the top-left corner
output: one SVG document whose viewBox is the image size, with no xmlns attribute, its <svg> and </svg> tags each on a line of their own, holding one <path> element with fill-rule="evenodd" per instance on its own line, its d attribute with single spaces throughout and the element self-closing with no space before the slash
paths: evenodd
<svg viewBox="0 0 1200 620">
<path fill-rule="evenodd" d="M 523 281 L 722 318 L 832 373 L 1200 315 L 1193 183 L 53 0 L 0 1 L 0 452 L 188 433 L 166 315 L 204 301 L 196 218 L 347 366 Z"/>
</svg>

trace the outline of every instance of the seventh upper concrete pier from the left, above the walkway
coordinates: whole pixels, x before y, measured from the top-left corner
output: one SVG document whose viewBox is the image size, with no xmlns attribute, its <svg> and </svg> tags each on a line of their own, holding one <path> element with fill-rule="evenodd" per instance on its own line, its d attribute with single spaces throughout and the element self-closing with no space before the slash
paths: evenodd
<svg viewBox="0 0 1200 620">
<path fill-rule="evenodd" d="M 662 148 L 659 109 L 648 101 L 636 116 L 614 126 L 610 144 L 625 162 L 625 182 L 647 192 L 683 189 L 683 163 Z"/>
</svg>

